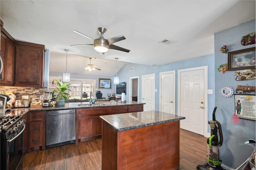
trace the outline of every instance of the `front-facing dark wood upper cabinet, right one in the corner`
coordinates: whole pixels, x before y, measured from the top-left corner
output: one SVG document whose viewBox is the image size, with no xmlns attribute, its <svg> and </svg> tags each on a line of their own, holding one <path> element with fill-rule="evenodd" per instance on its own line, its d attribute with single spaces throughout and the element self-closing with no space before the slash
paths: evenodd
<svg viewBox="0 0 256 170">
<path fill-rule="evenodd" d="M 15 86 L 44 86 L 44 45 L 16 41 Z"/>
</svg>

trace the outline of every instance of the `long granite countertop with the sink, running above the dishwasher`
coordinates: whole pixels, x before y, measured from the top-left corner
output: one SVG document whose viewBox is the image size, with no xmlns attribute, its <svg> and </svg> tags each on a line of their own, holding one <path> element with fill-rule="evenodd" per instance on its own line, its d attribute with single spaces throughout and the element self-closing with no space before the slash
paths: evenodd
<svg viewBox="0 0 256 170">
<path fill-rule="evenodd" d="M 65 106 L 52 106 L 52 107 L 21 107 L 14 109 L 0 109 L 0 117 L 11 115 L 24 115 L 28 111 L 51 111 L 51 110 L 63 110 L 63 109 L 78 109 L 78 108 L 95 108 L 95 107 L 109 107 L 109 106 L 126 106 L 144 104 L 134 101 L 116 102 L 111 100 L 108 102 L 98 102 L 96 104 L 90 104 L 89 102 L 77 102 L 77 103 L 65 103 Z"/>
</svg>

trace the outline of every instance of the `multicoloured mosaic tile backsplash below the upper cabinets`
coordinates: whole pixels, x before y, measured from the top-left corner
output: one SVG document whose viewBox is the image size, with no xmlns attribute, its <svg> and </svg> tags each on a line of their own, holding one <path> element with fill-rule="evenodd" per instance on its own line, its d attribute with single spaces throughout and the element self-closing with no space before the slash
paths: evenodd
<svg viewBox="0 0 256 170">
<path fill-rule="evenodd" d="M 40 96 L 47 92 L 47 87 L 16 87 L 16 86 L 0 86 L 0 93 L 12 92 L 16 94 L 17 99 L 21 99 L 22 96 L 29 96 L 29 99 L 40 100 Z"/>
</svg>

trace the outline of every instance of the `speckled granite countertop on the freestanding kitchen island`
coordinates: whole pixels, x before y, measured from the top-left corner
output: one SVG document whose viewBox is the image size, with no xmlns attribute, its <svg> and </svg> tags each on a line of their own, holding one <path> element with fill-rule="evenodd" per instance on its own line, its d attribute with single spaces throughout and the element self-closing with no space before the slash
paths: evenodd
<svg viewBox="0 0 256 170">
<path fill-rule="evenodd" d="M 103 115 L 100 116 L 100 118 L 117 129 L 117 131 L 126 131 L 129 129 L 185 119 L 183 116 L 164 113 L 161 111 L 141 111 L 116 115 Z"/>
</svg>

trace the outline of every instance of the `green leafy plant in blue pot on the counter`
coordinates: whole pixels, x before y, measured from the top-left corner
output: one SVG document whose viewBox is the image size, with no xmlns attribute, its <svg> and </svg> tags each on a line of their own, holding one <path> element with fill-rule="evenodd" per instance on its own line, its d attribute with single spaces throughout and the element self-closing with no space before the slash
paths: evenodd
<svg viewBox="0 0 256 170">
<path fill-rule="evenodd" d="M 54 98 L 55 96 L 57 96 L 56 98 L 56 106 L 64 106 L 65 105 L 65 100 L 68 101 L 70 98 L 70 95 L 68 93 L 66 93 L 66 90 L 70 90 L 68 84 L 70 84 L 69 82 L 62 82 L 60 80 L 55 79 L 55 81 L 58 83 L 58 87 L 55 86 L 57 89 L 52 91 L 52 97 Z M 56 95 L 55 95 L 56 93 Z"/>
</svg>

